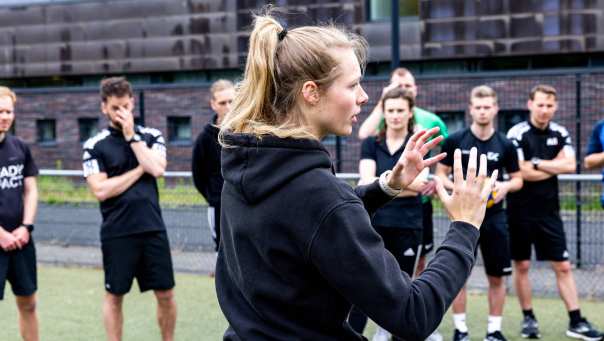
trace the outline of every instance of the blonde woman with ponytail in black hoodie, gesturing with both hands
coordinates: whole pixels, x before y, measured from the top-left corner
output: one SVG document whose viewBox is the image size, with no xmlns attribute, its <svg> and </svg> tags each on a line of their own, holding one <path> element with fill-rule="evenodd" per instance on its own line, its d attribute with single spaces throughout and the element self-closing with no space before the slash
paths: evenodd
<svg viewBox="0 0 604 341">
<path fill-rule="evenodd" d="M 412 281 L 386 251 L 369 215 L 444 155 L 442 138 L 415 133 L 390 171 L 352 189 L 321 144 L 350 135 L 367 94 L 366 43 L 333 26 L 287 30 L 257 16 L 244 79 L 220 131 L 224 187 L 216 291 L 224 340 L 363 340 L 346 321 L 352 304 L 407 340 L 439 324 L 474 263 L 492 178 L 473 150 L 467 178 L 456 152 L 456 190 L 439 195 L 451 229 Z M 457 165 L 457 164 L 456 164 Z"/>
</svg>

